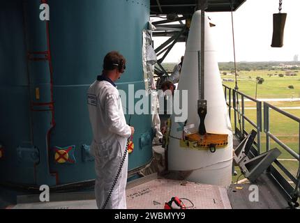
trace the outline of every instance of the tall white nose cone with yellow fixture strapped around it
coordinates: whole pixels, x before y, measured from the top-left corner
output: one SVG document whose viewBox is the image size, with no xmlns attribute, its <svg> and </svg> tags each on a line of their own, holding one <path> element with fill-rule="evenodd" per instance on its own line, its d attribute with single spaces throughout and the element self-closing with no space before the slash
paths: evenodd
<svg viewBox="0 0 300 223">
<path fill-rule="evenodd" d="M 172 116 L 172 128 L 168 149 L 170 171 L 189 171 L 188 180 L 211 185 L 228 186 L 232 183 L 232 129 L 223 92 L 220 70 L 216 61 L 216 50 L 211 38 L 210 20 L 205 17 L 205 66 L 204 98 L 207 100 L 205 127 L 208 133 L 228 134 L 226 147 L 217 148 L 216 153 L 209 150 L 183 148 L 179 139 L 182 137 L 181 125 Z M 197 114 L 199 100 L 198 52 L 201 50 L 201 11 L 193 15 L 186 46 L 183 67 L 178 90 L 188 90 L 188 121 L 194 124 L 190 132 L 198 132 L 200 118 Z"/>
</svg>

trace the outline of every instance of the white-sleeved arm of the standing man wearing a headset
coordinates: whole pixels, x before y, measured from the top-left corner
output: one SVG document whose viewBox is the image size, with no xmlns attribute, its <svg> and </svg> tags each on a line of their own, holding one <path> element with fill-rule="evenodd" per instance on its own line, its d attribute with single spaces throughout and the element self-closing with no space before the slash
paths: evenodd
<svg viewBox="0 0 300 223">
<path fill-rule="evenodd" d="M 131 128 L 123 121 L 119 113 L 119 95 L 114 93 L 107 95 L 105 103 L 105 112 L 107 114 L 107 123 L 110 126 L 109 131 L 119 134 L 121 137 L 129 138 L 131 135 Z"/>
</svg>

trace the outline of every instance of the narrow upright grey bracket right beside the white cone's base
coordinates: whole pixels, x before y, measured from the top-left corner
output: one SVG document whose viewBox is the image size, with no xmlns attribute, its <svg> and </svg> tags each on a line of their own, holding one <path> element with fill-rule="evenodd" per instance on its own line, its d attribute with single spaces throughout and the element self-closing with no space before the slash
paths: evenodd
<svg viewBox="0 0 300 223">
<path fill-rule="evenodd" d="M 234 150 L 234 162 L 236 164 L 239 164 L 241 160 L 244 160 L 246 157 L 248 157 L 248 153 L 250 151 L 251 146 L 253 145 L 254 139 L 256 137 L 257 132 L 255 130 L 252 130 L 250 134 L 247 135 L 243 141 L 235 148 Z"/>
</svg>

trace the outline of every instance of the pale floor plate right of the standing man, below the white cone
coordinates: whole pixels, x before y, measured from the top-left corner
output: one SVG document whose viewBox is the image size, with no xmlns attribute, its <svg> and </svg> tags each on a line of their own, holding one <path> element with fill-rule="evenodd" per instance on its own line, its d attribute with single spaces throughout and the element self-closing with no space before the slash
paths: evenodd
<svg viewBox="0 0 300 223">
<path fill-rule="evenodd" d="M 158 178 L 127 190 L 128 209 L 163 209 L 172 197 L 186 198 L 194 209 L 231 209 L 225 187 Z M 190 206 L 189 201 L 183 201 Z"/>
</svg>

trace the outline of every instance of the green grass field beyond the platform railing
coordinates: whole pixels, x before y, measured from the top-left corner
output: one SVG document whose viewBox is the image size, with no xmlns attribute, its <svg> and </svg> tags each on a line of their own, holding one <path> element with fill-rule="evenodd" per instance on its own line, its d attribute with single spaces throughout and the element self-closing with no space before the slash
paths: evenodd
<svg viewBox="0 0 300 223">
<path fill-rule="evenodd" d="M 222 71 L 221 73 L 223 73 Z M 228 72 L 228 71 L 225 71 Z M 264 78 L 262 84 L 257 85 L 257 98 L 290 98 L 290 101 L 278 101 L 269 102 L 271 105 L 276 107 L 300 107 L 300 101 L 292 101 L 292 98 L 300 98 L 300 77 L 278 77 L 280 73 L 285 74 L 282 70 L 257 70 L 257 71 L 241 71 L 238 77 L 239 91 L 250 95 L 255 98 L 256 89 L 256 77 Z M 273 75 L 269 77 L 269 74 Z M 298 74 L 298 72 L 296 72 Z M 299 73 L 300 75 L 300 73 Z M 234 79 L 233 75 L 221 75 L 223 79 Z M 226 86 L 234 88 L 234 82 L 223 82 Z M 294 86 L 294 89 L 289 89 L 288 86 Z M 245 102 L 245 107 L 256 107 L 255 102 Z M 300 117 L 300 109 L 285 109 L 285 112 L 289 112 L 294 116 Z M 257 123 L 257 114 L 255 109 L 245 109 L 245 115 L 250 118 L 251 121 Z M 234 126 L 234 114 L 232 112 L 232 127 Z M 263 121 L 263 120 L 262 120 Z M 262 126 L 264 123 L 262 123 Z M 292 148 L 293 151 L 299 154 L 299 123 L 292 121 L 290 118 L 279 114 L 276 111 L 270 110 L 270 132 L 275 134 L 278 139 L 283 141 L 284 144 Z M 245 129 L 250 132 L 254 127 L 245 121 Z M 294 160 L 295 158 L 287 153 L 280 145 L 278 145 L 272 139 L 270 140 L 270 148 L 279 148 L 281 151 L 280 163 L 282 163 L 293 176 L 297 176 L 297 171 L 299 169 L 299 162 Z M 261 132 L 261 151 L 264 153 L 266 151 L 266 135 Z M 238 171 L 238 176 L 240 175 L 239 168 L 236 167 Z M 280 171 L 283 173 L 282 171 Z M 233 182 L 238 178 L 235 176 Z M 284 174 L 283 174 L 284 176 Z M 239 180 L 243 179 L 243 176 Z"/>
</svg>

